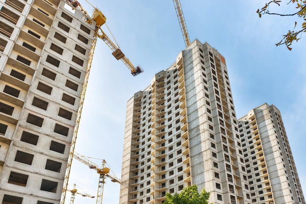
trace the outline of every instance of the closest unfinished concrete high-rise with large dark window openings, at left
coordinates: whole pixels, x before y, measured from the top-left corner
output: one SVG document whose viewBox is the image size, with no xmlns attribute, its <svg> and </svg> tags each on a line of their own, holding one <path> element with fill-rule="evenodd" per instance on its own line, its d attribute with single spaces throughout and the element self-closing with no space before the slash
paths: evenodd
<svg viewBox="0 0 306 204">
<path fill-rule="evenodd" d="M 64 0 L 0 2 L 0 203 L 60 203 L 94 28 Z"/>
</svg>

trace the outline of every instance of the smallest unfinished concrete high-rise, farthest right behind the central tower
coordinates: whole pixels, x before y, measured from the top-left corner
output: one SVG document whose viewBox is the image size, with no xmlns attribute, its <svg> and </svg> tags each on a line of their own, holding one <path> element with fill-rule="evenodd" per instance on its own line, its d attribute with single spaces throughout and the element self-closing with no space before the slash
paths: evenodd
<svg viewBox="0 0 306 204">
<path fill-rule="evenodd" d="M 280 111 L 263 104 L 239 120 L 253 204 L 305 204 Z"/>
</svg>

